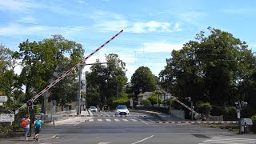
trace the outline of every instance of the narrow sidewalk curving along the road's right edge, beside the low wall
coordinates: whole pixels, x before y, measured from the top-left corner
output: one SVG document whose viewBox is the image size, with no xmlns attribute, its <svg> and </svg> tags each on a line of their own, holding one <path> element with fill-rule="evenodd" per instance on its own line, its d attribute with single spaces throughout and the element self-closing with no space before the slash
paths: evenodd
<svg viewBox="0 0 256 144">
<path fill-rule="evenodd" d="M 150 114 L 156 118 L 160 118 L 162 121 L 165 121 L 165 122 L 182 122 L 182 121 L 184 121 L 184 119 L 175 117 L 174 115 L 158 113 L 155 111 L 138 110 L 138 112 L 141 112 L 144 114 Z"/>
</svg>

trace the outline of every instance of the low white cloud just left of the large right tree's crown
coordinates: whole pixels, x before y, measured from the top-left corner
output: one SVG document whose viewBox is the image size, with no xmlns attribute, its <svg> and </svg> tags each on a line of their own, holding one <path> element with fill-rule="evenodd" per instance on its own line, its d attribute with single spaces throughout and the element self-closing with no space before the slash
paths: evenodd
<svg viewBox="0 0 256 144">
<path fill-rule="evenodd" d="M 147 42 L 144 43 L 139 51 L 145 51 L 146 53 L 170 53 L 172 50 L 181 50 L 182 44 L 171 44 L 167 42 Z"/>
</svg>

